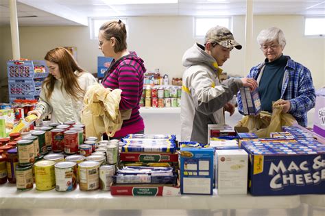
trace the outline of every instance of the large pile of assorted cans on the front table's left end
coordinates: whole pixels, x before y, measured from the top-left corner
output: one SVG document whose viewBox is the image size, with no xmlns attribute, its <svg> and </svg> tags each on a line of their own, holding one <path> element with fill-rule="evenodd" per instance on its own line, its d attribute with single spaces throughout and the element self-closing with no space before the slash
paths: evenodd
<svg viewBox="0 0 325 216">
<path fill-rule="evenodd" d="M 119 160 L 120 141 L 85 138 L 84 125 L 51 123 L 31 132 L 0 139 L 0 184 L 19 191 L 110 190 Z"/>
</svg>

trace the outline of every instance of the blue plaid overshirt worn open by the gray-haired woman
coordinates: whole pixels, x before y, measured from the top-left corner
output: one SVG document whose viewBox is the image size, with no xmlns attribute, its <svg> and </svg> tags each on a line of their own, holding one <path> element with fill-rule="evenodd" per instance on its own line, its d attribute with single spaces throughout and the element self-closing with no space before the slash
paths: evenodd
<svg viewBox="0 0 325 216">
<path fill-rule="evenodd" d="M 289 113 L 296 118 L 300 125 L 306 127 L 307 112 L 315 106 L 316 99 L 311 71 L 302 64 L 291 60 L 289 56 L 285 57 L 288 58 L 288 62 L 283 76 L 281 99 L 290 101 Z M 252 67 L 247 77 L 258 80 L 258 75 L 264 69 L 264 65 L 265 62 Z M 269 91 L 272 91 L 272 89 L 269 89 Z M 237 103 L 239 112 L 243 114 L 243 104 L 239 93 L 237 94 Z"/>
</svg>

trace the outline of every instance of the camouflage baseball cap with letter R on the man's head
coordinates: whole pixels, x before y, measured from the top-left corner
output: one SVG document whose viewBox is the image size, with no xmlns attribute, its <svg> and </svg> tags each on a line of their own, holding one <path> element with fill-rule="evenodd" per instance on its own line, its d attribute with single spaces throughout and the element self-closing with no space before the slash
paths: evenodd
<svg viewBox="0 0 325 216">
<path fill-rule="evenodd" d="M 206 32 L 204 45 L 206 43 L 218 43 L 222 47 L 241 49 L 241 45 L 234 40 L 234 36 L 226 27 L 219 25 L 212 27 Z"/>
</svg>

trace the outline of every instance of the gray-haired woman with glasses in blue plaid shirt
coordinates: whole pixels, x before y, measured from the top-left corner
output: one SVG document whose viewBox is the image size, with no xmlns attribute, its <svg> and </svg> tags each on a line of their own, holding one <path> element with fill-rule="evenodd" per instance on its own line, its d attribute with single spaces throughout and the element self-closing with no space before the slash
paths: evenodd
<svg viewBox="0 0 325 216">
<path fill-rule="evenodd" d="M 258 83 L 262 110 L 272 112 L 272 102 L 282 99 L 282 112 L 288 112 L 302 126 L 307 125 L 307 112 L 315 106 L 315 88 L 311 71 L 289 56 L 285 49 L 285 34 L 278 27 L 263 29 L 257 43 L 265 56 L 264 62 L 252 67 L 248 77 Z M 241 95 L 237 97 L 239 112 L 243 113 Z"/>
</svg>

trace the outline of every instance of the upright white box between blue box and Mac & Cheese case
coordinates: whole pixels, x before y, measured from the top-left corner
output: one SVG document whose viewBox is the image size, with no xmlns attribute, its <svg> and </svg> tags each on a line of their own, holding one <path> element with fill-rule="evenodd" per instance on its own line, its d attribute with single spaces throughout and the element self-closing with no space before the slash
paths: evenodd
<svg viewBox="0 0 325 216">
<path fill-rule="evenodd" d="M 245 150 L 216 150 L 215 165 L 215 185 L 219 195 L 247 193 L 248 154 Z"/>
</svg>

